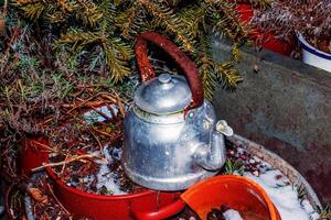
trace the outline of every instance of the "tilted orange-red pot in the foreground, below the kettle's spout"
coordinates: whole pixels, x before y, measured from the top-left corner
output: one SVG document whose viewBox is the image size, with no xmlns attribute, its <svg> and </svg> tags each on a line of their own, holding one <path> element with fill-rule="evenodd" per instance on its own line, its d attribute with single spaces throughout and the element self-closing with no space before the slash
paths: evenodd
<svg viewBox="0 0 331 220">
<path fill-rule="evenodd" d="M 243 219 L 252 216 L 263 220 L 281 220 L 265 193 L 253 180 L 233 175 L 211 177 L 190 187 L 181 198 L 204 220 L 212 208 L 226 205 L 241 212 Z M 245 218 L 246 217 L 246 218 Z"/>
</svg>

